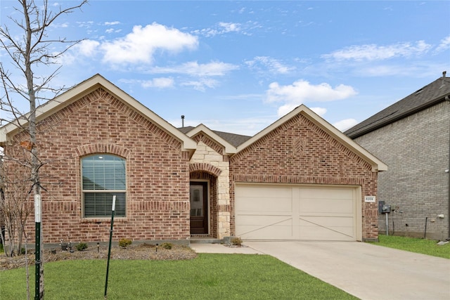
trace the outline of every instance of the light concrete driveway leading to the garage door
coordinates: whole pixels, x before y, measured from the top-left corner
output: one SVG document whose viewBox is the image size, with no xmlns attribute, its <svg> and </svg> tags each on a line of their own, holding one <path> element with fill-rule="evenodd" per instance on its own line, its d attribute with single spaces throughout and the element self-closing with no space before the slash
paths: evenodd
<svg viewBox="0 0 450 300">
<path fill-rule="evenodd" d="M 450 299 L 450 259 L 364 242 L 250 242 L 360 299 Z"/>
</svg>

